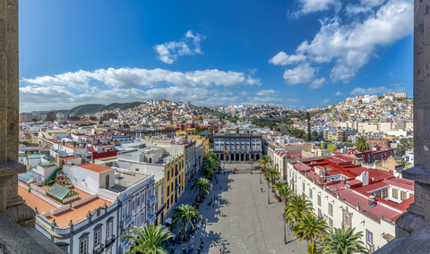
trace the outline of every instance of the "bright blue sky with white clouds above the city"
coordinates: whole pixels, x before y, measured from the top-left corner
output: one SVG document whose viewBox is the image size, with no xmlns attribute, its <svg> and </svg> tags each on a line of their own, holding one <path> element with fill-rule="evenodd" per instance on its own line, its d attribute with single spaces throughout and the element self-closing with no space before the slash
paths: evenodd
<svg viewBox="0 0 430 254">
<path fill-rule="evenodd" d="M 21 111 L 412 97 L 412 34 L 412 0 L 21 0 Z"/>
</svg>

